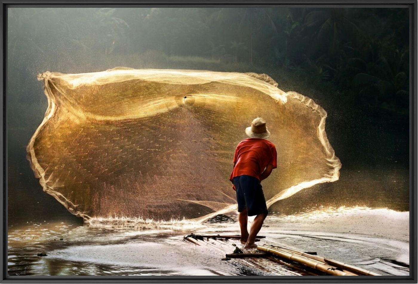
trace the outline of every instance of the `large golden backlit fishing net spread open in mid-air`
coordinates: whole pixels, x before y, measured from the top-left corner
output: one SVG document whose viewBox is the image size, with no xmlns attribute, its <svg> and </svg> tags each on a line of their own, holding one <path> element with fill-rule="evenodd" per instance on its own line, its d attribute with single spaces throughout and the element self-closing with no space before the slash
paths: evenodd
<svg viewBox="0 0 418 284">
<path fill-rule="evenodd" d="M 43 190 L 86 220 L 234 210 L 234 150 L 255 117 L 278 152 L 263 181 L 269 206 L 339 177 L 324 109 L 265 74 L 115 68 L 38 79 L 48 109 L 28 160 Z"/>
</svg>

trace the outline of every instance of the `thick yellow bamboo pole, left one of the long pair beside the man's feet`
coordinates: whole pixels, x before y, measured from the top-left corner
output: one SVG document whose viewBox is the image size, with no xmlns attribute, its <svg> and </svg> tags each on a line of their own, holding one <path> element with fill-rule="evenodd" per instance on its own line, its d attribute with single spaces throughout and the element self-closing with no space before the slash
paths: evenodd
<svg viewBox="0 0 418 284">
<path fill-rule="evenodd" d="M 329 264 L 324 264 L 320 261 L 317 261 L 315 259 L 309 259 L 307 257 L 293 254 L 289 251 L 282 250 L 280 248 L 268 248 L 265 246 L 257 246 L 257 250 L 268 252 L 271 254 L 276 254 L 280 257 L 283 257 L 284 259 L 288 259 L 291 261 L 298 262 L 300 264 L 304 264 L 308 267 L 317 269 L 319 271 L 325 272 L 326 274 L 336 275 L 336 276 L 353 276 L 356 275 L 354 273 L 350 272 L 344 272 L 336 269 L 336 267 L 330 266 Z"/>
</svg>

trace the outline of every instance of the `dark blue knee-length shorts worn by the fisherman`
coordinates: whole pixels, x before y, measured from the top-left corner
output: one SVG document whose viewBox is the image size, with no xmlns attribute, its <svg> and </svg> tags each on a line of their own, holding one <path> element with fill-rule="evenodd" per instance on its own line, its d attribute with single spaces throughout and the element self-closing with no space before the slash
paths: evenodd
<svg viewBox="0 0 418 284">
<path fill-rule="evenodd" d="M 247 208 L 248 216 L 268 214 L 263 187 L 256 177 L 240 175 L 232 180 L 237 190 L 238 212 Z"/>
</svg>

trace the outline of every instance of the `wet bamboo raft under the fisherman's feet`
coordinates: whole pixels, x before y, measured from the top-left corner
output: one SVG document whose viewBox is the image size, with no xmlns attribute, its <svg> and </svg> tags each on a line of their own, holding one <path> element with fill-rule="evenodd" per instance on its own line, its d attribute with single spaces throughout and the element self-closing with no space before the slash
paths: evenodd
<svg viewBox="0 0 418 284">
<path fill-rule="evenodd" d="M 240 235 L 195 235 L 190 234 L 184 236 L 184 240 L 190 241 L 198 246 L 204 244 L 204 239 L 209 241 L 228 241 L 229 239 L 239 239 Z M 256 241 L 260 241 L 260 238 L 265 236 L 257 236 Z M 240 251 L 240 250 L 238 250 Z M 359 268 L 341 261 L 329 259 L 326 257 L 316 255 L 316 252 L 297 251 L 291 248 L 285 248 L 283 246 L 264 244 L 263 246 L 257 246 L 257 253 L 246 253 L 240 251 L 240 253 L 226 254 L 228 259 L 267 259 L 268 261 L 286 266 L 293 271 L 297 271 L 301 275 L 334 275 L 334 276 L 380 276 L 372 271 Z M 254 263 L 253 263 L 254 264 Z M 260 266 L 260 265 L 259 265 Z"/>
</svg>

